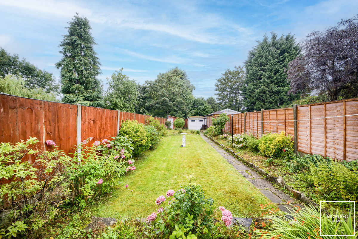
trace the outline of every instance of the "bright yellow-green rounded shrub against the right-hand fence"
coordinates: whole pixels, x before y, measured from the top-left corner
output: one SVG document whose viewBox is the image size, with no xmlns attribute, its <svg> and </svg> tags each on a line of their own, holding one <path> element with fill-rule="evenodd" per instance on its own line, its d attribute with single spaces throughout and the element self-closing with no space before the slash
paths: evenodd
<svg viewBox="0 0 358 239">
<path fill-rule="evenodd" d="M 286 155 L 285 151 L 293 151 L 293 141 L 291 136 L 285 135 L 285 131 L 268 133 L 260 138 L 258 149 L 266 157 L 282 158 Z"/>
</svg>

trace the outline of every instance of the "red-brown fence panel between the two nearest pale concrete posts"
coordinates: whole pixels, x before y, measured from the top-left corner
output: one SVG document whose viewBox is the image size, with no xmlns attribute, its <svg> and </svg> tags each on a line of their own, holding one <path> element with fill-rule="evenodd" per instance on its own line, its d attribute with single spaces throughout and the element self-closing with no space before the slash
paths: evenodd
<svg viewBox="0 0 358 239">
<path fill-rule="evenodd" d="M 91 143 L 112 140 L 117 135 L 117 111 L 81 106 L 81 141 L 93 137 Z"/>
</svg>

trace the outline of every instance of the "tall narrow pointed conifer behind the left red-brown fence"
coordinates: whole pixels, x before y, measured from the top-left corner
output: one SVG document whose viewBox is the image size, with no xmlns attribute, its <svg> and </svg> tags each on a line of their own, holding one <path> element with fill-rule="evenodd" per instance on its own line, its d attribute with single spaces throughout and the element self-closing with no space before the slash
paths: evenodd
<svg viewBox="0 0 358 239">
<path fill-rule="evenodd" d="M 102 86 L 96 78 L 101 73 L 101 64 L 93 50 L 96 43 L 89 21 L 77 14 L 68 24 L 68 35 L 63 36 L 59 45 L 63 57 L 56 63 L 57 69 L 61 68 L 62 101 L 103 107 Z"/>
</svg>

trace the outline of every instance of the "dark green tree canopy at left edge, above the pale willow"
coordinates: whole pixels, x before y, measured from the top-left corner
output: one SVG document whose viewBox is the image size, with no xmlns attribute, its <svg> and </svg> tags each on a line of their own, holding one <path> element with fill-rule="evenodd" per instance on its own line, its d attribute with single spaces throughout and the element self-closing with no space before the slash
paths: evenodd
<svg viewBox="0 0 358 239">
<path fill-rule="evenodd" d="M 28 89 L 43 88 L 47 93 L 57 92 L 59 89 L 52 73 L 40 70 L 25 58 L 20 60 L 18 55 L 10 55 L 0 48 L 0 76 L 4 78 L 8 74 L 21 77 Z"/>
</svg>

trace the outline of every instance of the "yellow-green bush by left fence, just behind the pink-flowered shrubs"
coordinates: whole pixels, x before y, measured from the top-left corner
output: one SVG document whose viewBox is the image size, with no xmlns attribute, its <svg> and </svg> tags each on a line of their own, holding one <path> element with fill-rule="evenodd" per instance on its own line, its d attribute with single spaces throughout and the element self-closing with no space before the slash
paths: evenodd
<svg viewBox="0 0 358 239">
<path fill-rule="evenodd" d="M 138 123 L 136 120 L 122 121 L 119 135 L 126 136 L 133 143 L 133 155 L 139 155 L 140 153 L 148 150 L 147 144 L 147 131 L 142 123 Z"/>
</svg>

